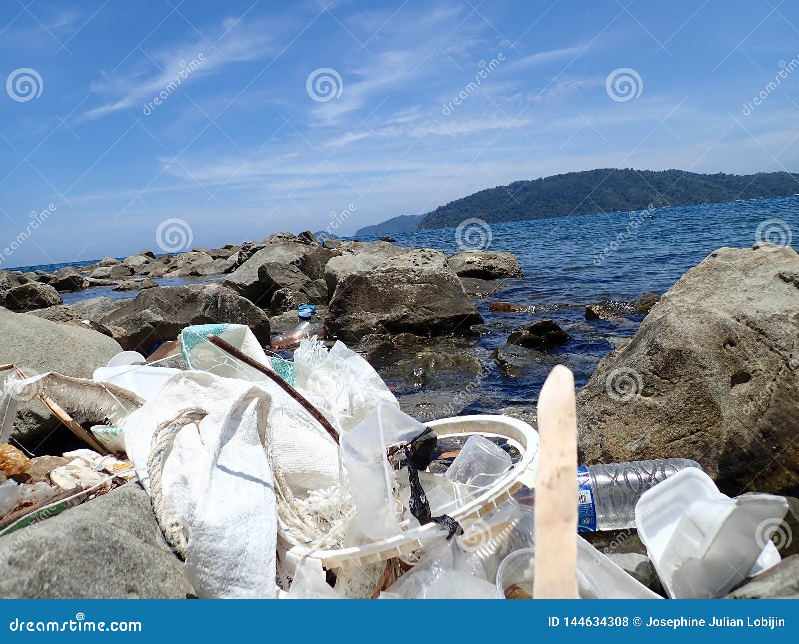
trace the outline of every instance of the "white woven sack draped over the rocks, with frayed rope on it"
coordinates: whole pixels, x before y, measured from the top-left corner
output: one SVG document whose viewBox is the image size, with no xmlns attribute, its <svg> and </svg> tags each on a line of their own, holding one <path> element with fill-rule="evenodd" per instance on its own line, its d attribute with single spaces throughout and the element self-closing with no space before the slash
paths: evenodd
<svg viewBox="0 0 799 644">
<path fill-rule="evenodd" d="M 186 574 L 203 598 L 276 596 L 277 515 L 270 454 L 270 392 L 253 384 L 184 372 L 125 423 L 125 447 L 151 494 L 153 435 L 186 410 L 205 413 L 175 435 L 161 459 L 164 503 L 189 538 Z"/>
</svg>

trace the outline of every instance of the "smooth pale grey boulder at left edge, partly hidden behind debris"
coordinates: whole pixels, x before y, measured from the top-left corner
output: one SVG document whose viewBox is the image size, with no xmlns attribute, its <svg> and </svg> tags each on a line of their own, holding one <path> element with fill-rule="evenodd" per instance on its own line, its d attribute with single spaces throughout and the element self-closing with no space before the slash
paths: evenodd
<svg viewBox="0 0 799 644">
<path fill-rule="evenodd" d="M 16 364 L 24 372 L 58 372 L 75 378 L 91 378 L 95 369 L 122 351 L 116 341 L 92 331 L 85 324 L 57 324 L 43 317 L 0 308 L 0 364 Z M 66 428 L 38 400 L 20 403 L 15 432 L 26 447 L 39 451 L 42 438 L 54 430 L 71 439 Z M 78 439 L 72 447 L 85 447 Z"/>
</svg>

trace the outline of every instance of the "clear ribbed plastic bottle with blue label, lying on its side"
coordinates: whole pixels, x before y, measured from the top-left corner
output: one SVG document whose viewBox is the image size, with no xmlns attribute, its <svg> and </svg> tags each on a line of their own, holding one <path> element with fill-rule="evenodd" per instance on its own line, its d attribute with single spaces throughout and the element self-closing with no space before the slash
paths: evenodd
<svg viewBox="0 0 799 644">
<path fill-rule="evenodd" d="M 635 504 L 641 495 L 686 467 L 700 466 L 690 459 L 656 459 L 578 467 L 577 531 L 635 527 Z"/>
</svg>

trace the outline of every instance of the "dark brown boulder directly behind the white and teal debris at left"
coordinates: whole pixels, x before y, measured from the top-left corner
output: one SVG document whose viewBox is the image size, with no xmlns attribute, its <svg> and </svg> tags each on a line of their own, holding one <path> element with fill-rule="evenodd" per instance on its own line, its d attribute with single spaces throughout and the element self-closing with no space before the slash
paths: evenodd
<svg viewBox="0 0 799 644">
<path fill-rule="evenodd" d="M 193 324 L 246 324 L 262 344 L 269 342 L 269 319 L 252 302 L 220 284 L 161 286 L 102 316 L 105 326 L 125 329 L 123 347 L 148 355 L 160 342 L 175 340 Z"/>
</svg>

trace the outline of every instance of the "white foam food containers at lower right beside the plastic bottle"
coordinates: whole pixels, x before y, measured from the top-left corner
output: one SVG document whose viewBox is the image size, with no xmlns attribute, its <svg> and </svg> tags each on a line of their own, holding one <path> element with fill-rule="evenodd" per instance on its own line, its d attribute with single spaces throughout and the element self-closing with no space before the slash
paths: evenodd
<svg viewBox="0 0 799 644">
<path fill-rule="evenodd" d="M 781 496 L 730 499 L 690 467 L 641 496 L 635 525 L 670 597 L 716 598 L 774 561 L 770 539 L 787 511 Z"/>
</svg>

